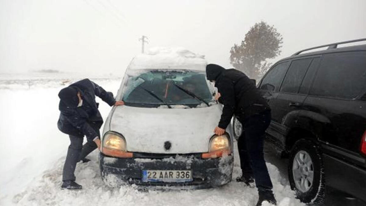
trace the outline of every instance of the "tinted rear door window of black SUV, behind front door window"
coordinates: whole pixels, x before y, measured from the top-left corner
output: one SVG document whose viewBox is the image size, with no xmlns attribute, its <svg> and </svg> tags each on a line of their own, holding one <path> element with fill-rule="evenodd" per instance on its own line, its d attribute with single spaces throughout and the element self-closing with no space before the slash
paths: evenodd
<svg viewBox="0 0 366 206">
<path fill-rule="evenodd" d="M 283 80 L 280 91 L 298 93 L 300 84 L 306 74 L 307 68 L 310 65 L 311 58 L 298 59 L 291 62 L 285 79 Z"/>
</svg>

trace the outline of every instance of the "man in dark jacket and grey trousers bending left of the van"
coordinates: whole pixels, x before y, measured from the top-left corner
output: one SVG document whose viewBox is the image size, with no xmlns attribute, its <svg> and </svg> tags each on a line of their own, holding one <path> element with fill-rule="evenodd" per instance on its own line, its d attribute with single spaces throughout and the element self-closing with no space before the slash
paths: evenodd
<svg viewBox="0 0 366 206">
<path fill-rule="evenodd" d="M 61 189 L 81 189 L 82 186 L 75 183 L 76 162 L 88 162 L 86 155 L 100 148 L 99 129 L 103 119 L 99 113 L 95 96 L 100 97 L 109 106 L 123 105 L 123 101 L 116 101 L 112 92 L 106 92 L 103 88 L 89 79 L 84 79 L 61 89 L 59 92 L 60 118 L 57 126 L 61 132 L 70 137 L 71 144 L 67 150 L 64 164 Z M 83 145 L 83 137 L 87 143 Z"/>
</svg>

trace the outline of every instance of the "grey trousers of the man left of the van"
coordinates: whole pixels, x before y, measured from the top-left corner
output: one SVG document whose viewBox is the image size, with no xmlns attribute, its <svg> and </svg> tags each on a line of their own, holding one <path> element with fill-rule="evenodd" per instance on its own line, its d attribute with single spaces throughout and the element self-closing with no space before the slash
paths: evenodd
<svg viewBox="0 0 366 206">
<path fill-rule="evenodd" d="M 98 133 L 98 132 L 97 132 Z M 75 181 L 75 167 L 76 163 L 81 161 L 90 152 L 97 148 L 97 144 L 93 140 L 88 140 L 87 143 L 83 145 L 84 137 L 77 137 L 69 135 L 70 146 L 67 150 L 66 161 L 64 164 L 64 169 L 62 173 L 62 181 L 74 180 Z"/>
</svg>

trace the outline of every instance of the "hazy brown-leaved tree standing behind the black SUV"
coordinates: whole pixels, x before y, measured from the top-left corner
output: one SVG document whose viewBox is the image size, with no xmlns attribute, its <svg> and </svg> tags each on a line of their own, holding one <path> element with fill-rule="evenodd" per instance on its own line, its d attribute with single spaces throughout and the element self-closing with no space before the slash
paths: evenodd
<svg viewBox="0 0 366 206">
<path fill-rule="evenodd" d="M 234 44 L 230 51 L 230 63 L 247 76 L 259 79 L 271 66 L 267 59 L 281 53 L 282 35 L 273 26 L 261 21 L 255 23 L 240 45 Z"/>
</svg>

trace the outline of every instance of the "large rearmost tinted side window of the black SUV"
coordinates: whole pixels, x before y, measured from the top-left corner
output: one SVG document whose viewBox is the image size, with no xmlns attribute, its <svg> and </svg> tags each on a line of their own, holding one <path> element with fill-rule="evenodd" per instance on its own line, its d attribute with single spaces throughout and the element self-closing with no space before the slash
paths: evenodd
<svg viewBox="0 0 366 206">
<path fill-rule="evenodd" d="M 325 54 L 310 95 L 354 99 L 365 93 L 366 52 Z"/>
</svg>

